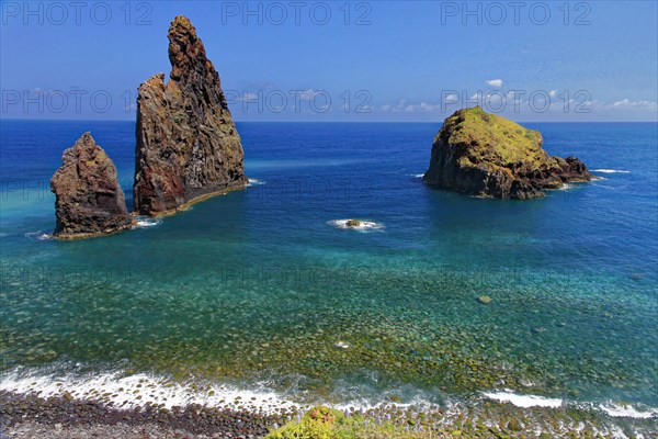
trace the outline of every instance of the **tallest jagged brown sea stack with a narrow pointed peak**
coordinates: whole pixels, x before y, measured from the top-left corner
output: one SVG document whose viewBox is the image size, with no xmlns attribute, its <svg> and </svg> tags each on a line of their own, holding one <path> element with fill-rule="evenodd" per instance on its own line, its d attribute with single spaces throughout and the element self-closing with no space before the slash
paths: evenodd
<svg viewBox="0 0 658 439">
<path fill-rule="evenodd" d="M 240 136 L 196 30 L 177 16 L 168 36 L 169 82 L 156 75 L 137 97 L 135 211 L 147 215 L 248 183 Z"/>
</svg>

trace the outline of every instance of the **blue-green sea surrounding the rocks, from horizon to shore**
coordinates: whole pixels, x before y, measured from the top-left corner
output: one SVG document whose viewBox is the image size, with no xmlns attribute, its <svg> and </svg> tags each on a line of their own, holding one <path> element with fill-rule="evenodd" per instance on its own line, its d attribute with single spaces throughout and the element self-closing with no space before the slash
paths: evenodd
<svg viewBox="0 0 658 439">
<path fill-rule="evenodd" d="M 134 123 L 2 121 L 2 387 L 166 376 L 336 404 L 536 395 L 656 417 L 658 125 L 526 126 L 601 179 L 475 199 L 421 181 L 440 123 L 239 123 L 247 190 L 57 241 L 63 150 L 91 131 L 132 205 Z"/>
</svg>

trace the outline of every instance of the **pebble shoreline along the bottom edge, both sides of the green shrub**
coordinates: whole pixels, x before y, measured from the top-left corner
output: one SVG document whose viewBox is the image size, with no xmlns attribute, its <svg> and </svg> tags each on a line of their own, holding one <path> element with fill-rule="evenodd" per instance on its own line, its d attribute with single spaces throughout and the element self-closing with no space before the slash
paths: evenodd
<svg viewBox="0 0 658 439">
<path fill-rule="evenodd" d="M 427 412 L 389 404 L 368 409 L 349 407 L 343 413 L 355 426 L 362 425 L 364 438 L 372 436 L 368 428 L 382 425 L 395 426 L 409 439 L 658 438 L 654 419 L 611 424 L 576 407 L 521 408 L 483 401 Z M 42 397 L 38 392 L 0 391 L 0 439 L 256 439 L 286 423 L 298 423 L 302 415 L 296 407 L 280 407 L 273 413 L 198 404 L 166 408 L 147 403 L 122 408 L 105 401 L 77 399 L 67 392 Z"/>
</svg>

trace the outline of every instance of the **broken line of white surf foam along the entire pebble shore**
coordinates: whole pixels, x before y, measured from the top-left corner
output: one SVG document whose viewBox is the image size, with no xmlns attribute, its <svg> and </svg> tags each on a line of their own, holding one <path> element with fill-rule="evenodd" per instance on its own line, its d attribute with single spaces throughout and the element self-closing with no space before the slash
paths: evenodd
<svg viewBox="0 0 658 439">
<path fill-rule="evenodd" d="M 212 384 L 200 381 L 180 383 L 167 378 L 147 373 L 127 374 L 125 372 L 106 373 L 55 373 L 47 369 L 13 370 L 0 375 L 0 391 L 19 394 L 38 394 L 41 397 L 70 395 L 77 399 L 99 401 L 112 404 L 117 408 L 144 407 L 147 404 L 161 405 L 167 408 L 185 407 L 192 404 L 208 407 L 248 409 L 263 414 L 274 414 L 281 408 L 309 407 L 307 403 L 293 402 L 285 395 L 272 391 L 268 383 L 256 383 L 249 389 L 227 384 Z M 393 392 L 393 391 L 392 391 Z M 390 393 L 405 393 L 396 390 Z M 546 398 L 535 395 L 515 394 L 509 390 L 484 393 L 488 398 L 511 403 L 521 408 L 547 407 L 557 408 L 568 404 L 559 398 Z M 415 410 L 434 410 L 442 408 L 449 416 L 457 416 L 463 410 L 458 402 L 444 402 L 441 405 L 430 402 L 429 395 L 419 393 L 405 402 L 396 402 L 399 408 Z M 351 398 L 339 404 L 331 404 L 338 409 L 362 407 L 363 410 L 389 406 L 387 398 Z M 446 405 L 447 404 L 447 405 Z M 650 419 L 658 416 L 657 408 L 638 407 L 617 403 L 597 405 L 592 403 L 577 404 L 582 408 L 598 408 L 612 417 Z M 624 437 L 624 436 L 621 436 Z"/>
</svg>

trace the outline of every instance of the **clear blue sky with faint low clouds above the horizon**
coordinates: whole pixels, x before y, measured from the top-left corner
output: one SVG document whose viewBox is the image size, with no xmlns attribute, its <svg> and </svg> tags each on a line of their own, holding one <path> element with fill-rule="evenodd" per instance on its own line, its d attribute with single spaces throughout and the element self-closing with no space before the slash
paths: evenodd
<svg viewBox="0 0 658 439">
<path fill-rule="evenodd" d="M 178 14 L 238 121 L 658 117 L 656 1 L 1 3 L 7 119 L 134 119 Z"/>
</svg>

